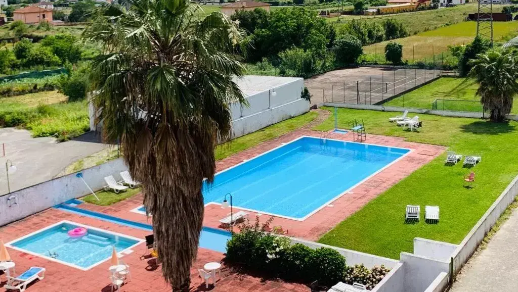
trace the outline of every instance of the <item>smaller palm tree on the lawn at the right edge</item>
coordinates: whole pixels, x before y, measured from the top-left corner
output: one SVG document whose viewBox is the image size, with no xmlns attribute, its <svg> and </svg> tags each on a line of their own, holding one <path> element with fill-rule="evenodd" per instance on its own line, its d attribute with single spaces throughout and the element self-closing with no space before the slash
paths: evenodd
<svg viewBox="0 0 518 292">
<path fill-rule="evenodd" d="M 469 75 L 477 80 L 480 103 L 484 111 L 490 111 L 494 122 L 505 121 L 513 107 L 513 97 L 518 93 L 518 65 L 510 51 L 490 50 L 471 60 Z"/>
</svg>

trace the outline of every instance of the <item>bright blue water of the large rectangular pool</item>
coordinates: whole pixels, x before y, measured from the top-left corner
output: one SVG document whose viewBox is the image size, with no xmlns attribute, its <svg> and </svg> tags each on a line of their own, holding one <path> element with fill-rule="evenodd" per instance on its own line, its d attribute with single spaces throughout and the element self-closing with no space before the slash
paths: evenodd
<svg viewBox="0 0 518 292">
<path fill-rule="evenodd" d="M 219 173 L 204 200 L 231 193 L 236 207 L 304 219 L 409 151 L 303 137 Z"/>
</svg>

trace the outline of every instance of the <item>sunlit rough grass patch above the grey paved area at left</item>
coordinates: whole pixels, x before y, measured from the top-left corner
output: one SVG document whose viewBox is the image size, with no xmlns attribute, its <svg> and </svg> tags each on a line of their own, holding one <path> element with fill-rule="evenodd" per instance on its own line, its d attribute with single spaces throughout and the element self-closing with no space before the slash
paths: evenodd
<svg viewBox="0 0 518 292">
<path fill-rule="evenodd" d="M 57 91 L 0 98 L 0 126 L 24 127 L 33 137 L 55 136 L 59 141 L 90 130 L 87 101 L 65 101 Z"/>
</svg>

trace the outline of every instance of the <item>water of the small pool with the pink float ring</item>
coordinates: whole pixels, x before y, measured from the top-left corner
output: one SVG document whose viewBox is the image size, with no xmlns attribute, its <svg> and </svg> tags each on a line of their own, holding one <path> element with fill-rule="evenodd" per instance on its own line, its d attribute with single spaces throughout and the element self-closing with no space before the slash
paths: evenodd
<svg viewBox="0 0 518 292">
<path fill-rule="evenodd" d="M 70 238 L 67 234 L 68 230 L 76 227 L 79 226 L 61 223 L 10 245 L 44 256 L 54 254 L 57 255 L 54 257 L 57 260 L 86 269 L 99 261 L 108 259 L 113 246 L 117 252 L 121 252 L 138 243 L 131 238 L 88 228 L 87 235 L 81 238 Z"/>
</svg>

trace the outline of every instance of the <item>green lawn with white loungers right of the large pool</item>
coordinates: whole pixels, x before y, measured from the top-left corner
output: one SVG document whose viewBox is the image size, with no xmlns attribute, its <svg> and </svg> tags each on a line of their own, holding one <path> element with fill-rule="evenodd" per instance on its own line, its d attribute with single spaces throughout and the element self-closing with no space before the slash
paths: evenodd
<svg viewBox="0 0 518 292">
<path fill-rule="evenodd" d="M 472 169 L 444 166 L 445 153 L 370 201 L 319 242 L 370 254 L 399 258 L 412 252 L 414 237 L 460 243 L 482 214 L 516 176 L 518 170 L 517 122 L 491 123 L 478 119 L 446 118 L 421 114 L 421 132 L 404 131 L 390 123 L 391 112 L 338 110 L 338 126 L 352 119 L 364 120 L 369 134 L 404 137 L 408 141 L 447 145 L 459 154 L 482 156 Z M 334 127 L 330 117 L 318 130 Z M 367 142 L 369 141 L 367 136 Z M 463 176 L 476 173 L 472 189 L 463 187 Z M 440 207 L 440 222 L 405 224 L 406 205 Z"/>
</svg>

